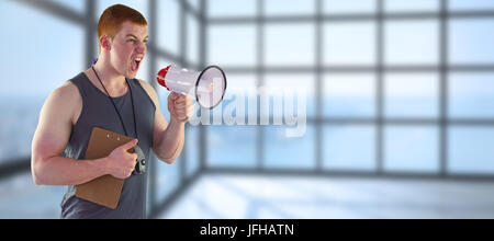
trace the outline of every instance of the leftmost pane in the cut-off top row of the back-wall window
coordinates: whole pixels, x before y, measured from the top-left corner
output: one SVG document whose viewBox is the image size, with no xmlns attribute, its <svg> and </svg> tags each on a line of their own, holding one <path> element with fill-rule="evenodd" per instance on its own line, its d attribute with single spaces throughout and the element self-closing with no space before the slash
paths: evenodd
<svg viewBox="0 0 494 241">
<path fill-rule="evenodd" d="M 209 16 L 252 16 L 256 15 L 257 0 L 209 0 Z"/>
</svg>

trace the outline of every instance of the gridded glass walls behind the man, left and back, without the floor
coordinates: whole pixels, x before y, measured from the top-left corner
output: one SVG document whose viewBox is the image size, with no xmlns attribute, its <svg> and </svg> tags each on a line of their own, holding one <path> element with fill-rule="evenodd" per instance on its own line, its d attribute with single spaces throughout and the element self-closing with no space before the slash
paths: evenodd
<svg viewBox="0 0 494 241">
<path fill-rule="evenodd" d="M 98 18 L 123 3 L 149 23 L 137 78 L 155 84 L 176 64 L 218 65 L 228 79 L 209 112 L 221 124 L 188 124 L 177 164 L 153 161 L 149 211 L 207 169 L 492 177 L 493 2 L 0 1 L 0 167 L 29 170 L 42 104 L 90 66 Z M 169 91 L 157 93 L 169 119 Z M 302 136 L 287 135 L 287 113 L 305 114 Z"/>
</svg>

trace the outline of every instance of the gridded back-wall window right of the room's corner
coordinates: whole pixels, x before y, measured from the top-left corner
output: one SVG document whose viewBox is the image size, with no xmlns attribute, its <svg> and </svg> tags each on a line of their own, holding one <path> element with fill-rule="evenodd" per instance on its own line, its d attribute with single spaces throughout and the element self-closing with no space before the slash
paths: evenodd
<svg viewBox="0 0 494 241">
<path fill-rule="evenodd" d="M 217 43 L 209 43 L 216 47 L 207 49 L 207 64 L 256 76 L 261 91 L 308 90 L 302 138 L 288 138 L 273 125 L 283 114 L 273 107 L 276 94 L 266 104 L 270 126 L 236 133 L 239 150 L 257 153 L 249 163 L 454 175 L 479 173 L 489 162 L 489 151 L 473 144 L 489 138 L 478 129 L 494 127 L 491 1 L 259 0 L 242 1 L 248 8 L 232 14 L 218 2 L 209 5 L 210 41 Z M 242 39 L 223 50 L 228 38 Z M 210 135 L 236 135 L 222 128 Z M 216 144 L 225 145 L 207 144 L 209 157 L 228 159 Z M 494 174 L 489 168 L 482 173 Z"/>
</svg>

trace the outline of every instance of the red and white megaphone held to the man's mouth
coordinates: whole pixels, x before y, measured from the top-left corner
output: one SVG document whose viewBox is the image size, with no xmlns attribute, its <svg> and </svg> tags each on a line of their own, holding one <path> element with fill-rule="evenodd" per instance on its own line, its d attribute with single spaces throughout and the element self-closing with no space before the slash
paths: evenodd
<svg viewBox="0 0 494 241">
<path fill-rule="evenodd" d="M 156 80 L 169 91 L 194 96 L 204 108 L 218 105 L 226 91 L 225 72 L 217 66 L 195 72 L 170 65 L 159 70 Z"/>
</svg>

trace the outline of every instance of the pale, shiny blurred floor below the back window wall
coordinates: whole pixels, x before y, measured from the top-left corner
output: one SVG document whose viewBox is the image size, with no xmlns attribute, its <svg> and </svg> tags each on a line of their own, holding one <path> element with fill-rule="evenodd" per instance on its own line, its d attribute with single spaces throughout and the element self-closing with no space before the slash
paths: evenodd
<svg viewBox="0 0 494 241">
<path fill-rule="evenodd" d="M 159 218 L 494 218 L 494 183 L 205 174 Z"/>
</svg>

